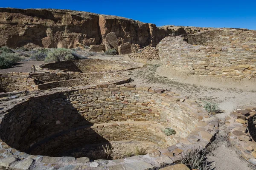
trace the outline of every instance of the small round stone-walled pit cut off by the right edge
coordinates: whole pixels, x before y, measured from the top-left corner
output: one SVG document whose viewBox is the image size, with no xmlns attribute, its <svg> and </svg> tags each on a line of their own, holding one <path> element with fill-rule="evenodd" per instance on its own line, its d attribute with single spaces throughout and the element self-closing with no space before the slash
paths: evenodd
<svg viewBox="0 0 256 170">
<path fill-rule="evenodd" d="M 241 156 L 256 164 L 256 107 L 238 109 L 226 117 L 230 143 L 241 151 Z"/>
</svg>

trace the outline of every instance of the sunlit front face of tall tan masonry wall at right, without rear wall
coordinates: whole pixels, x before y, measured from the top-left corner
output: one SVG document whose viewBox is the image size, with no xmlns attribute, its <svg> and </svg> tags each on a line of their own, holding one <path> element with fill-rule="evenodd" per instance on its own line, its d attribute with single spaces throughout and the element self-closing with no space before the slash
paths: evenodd
<svg viewBox="0 0 256 170">
<path fill-rule="evenodd" d="M 231 47 L 216 46 L 218 44 L 206 47 L 192 45 L 187 41 L 191 42 L 180 36 L 164 38 L 158 46 L 160 61 L 167 67 L 187 74 L 234 79 L 256 77 L 256 44 L 251 44 L 253 38 L 248 40 L 247 45 Z"/>
</svg>

